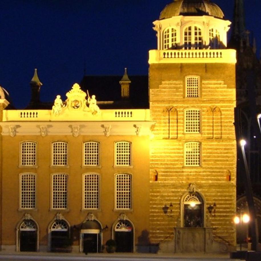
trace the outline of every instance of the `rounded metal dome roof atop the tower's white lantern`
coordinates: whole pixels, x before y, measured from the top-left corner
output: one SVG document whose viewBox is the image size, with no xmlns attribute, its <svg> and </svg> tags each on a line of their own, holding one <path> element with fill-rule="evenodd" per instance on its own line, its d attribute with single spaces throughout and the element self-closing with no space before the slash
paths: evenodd
<svg viewBox="0 0 261 261">
<path fill-rule="evenodd" d="M 224 17 L 220 7 L 209 0 L 174 0 L 161 11 L 159 19 L 167 19 L 178 15 Z"/>
</svg>

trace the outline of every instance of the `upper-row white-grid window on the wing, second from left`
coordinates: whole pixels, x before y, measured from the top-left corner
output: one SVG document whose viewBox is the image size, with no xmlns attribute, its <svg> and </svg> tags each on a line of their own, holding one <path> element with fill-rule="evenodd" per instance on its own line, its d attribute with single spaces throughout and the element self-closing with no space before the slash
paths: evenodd
<svg viewBox="0 0 261 261">
<path fill-rule="evenodd" d="M 66 166 L 68 164 L 68 144 L 57 141 L 52 143 L 52 165 Z"/>
</svg>

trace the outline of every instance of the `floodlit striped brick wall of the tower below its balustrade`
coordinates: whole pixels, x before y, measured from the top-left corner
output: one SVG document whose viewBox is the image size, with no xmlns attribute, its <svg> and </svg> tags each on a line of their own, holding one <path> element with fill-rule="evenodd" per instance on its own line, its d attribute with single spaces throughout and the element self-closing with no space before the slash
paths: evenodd
<svg viewBox="0 0 261 261">
<path fill-rule="evenodd" d="M 232 221 L 236 207 L 235 64 L 218 61 L 187 64 L 185 60 L 183 63 L 150 64 L 149 68 L 150 113 L 151 120 L 156 122 L 150 151 L 151 240 L 173 239 L 173 227 L 179 226 L 182 211 L 181 197 L 188 191 L 189 184 L 194 183 L 205 198 L 205 225 L 208 216 L 214 228 L 214 239 L 235 245 Z M 184 98 L 185 76 L 188 75 L 200 76 L 199 98 Z M 168 124 L 162 112 L 168 106 L 176 109 L 172 114 L 174 123 L 170 126 L 175 135 L 171 139 L 164 136 Z M 211 110 L 216 107 L 213 120 Z M 184 133 L 186 108 L 201 110 L 201 133 Z M 201 166 L 184 167 L 186 141 L 201 143 Z M 158 181 L 153 181 L 156 173 Z M 207 211 L 214 202 L 217 205 L 215 217 Z M 173 211 L 165 215 L 162 208 L 170 203 Z"/>
</svg>

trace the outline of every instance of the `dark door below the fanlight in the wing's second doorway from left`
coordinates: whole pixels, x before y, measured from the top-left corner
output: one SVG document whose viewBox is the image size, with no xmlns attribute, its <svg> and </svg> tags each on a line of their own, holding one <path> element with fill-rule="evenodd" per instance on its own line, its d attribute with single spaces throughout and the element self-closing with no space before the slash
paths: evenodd
<svg viewBox="0 0 261 261">
<path fill-rule="evenodd" d="M 67 252 L 69 247 L 68 231 L 51 232 L 51 252 Z"/>
</svg>

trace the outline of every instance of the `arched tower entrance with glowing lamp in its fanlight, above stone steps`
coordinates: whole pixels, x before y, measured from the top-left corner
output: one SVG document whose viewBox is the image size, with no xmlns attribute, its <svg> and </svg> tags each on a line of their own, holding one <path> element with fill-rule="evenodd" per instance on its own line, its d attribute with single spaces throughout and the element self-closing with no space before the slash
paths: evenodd
<svg viewBox="0 0 261 261">
<path fill-rule="evenodd" d="M 204 226 L 204 204 L 199 193 L 189 193 L 183 201 L 184 227 Z"/>
</svg>

